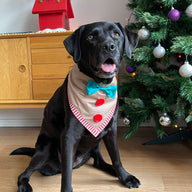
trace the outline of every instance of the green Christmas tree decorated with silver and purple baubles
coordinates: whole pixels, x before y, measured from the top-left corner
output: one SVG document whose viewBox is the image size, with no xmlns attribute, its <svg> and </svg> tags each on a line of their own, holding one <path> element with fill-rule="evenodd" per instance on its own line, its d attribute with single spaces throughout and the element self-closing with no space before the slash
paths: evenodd
<svg viewBox="0 0 192 192">
<path fill-rule="evenodd" d="M 150 118 L 162 138 L 178 118 L 192 121 L 192 0 L 130 0 L 128 8 L 140 40 L 119 86 L 125 138 Z"/>
</svg>

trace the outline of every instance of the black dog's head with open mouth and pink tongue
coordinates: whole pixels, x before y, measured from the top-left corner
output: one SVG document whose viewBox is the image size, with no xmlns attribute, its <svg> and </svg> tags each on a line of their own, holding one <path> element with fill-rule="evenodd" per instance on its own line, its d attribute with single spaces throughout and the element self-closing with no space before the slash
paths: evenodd
<svg viewBox="0 0 192 192">
<path fill-rule="evenodd" d="M 124 52 L 131 58 L 137 43 L 137 34 L 111 22 L 83 25 L 64 40 L 80 71 L 104 84 L 118 73 Z"/>
</svg>

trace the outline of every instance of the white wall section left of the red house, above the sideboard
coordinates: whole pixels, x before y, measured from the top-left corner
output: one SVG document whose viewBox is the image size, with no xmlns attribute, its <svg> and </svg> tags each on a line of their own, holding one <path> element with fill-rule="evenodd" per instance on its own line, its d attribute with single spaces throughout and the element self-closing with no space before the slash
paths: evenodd
<svg viewBox="0 0 192 192">
<path fill-rule="evenodd" d="M 38 17 L 32 14 L 35 0 L 1 0 L 0 33 L 37 31 Z"/>
</svg>

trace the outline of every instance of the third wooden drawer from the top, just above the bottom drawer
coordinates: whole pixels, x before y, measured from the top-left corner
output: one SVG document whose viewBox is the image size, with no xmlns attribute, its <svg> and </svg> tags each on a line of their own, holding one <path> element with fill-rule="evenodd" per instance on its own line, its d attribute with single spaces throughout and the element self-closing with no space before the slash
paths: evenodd
<svg viewBox="0 0 192 192">
<path fill-rule="evenodd" d="M 65 78 L 73 64 L 38 64 L 32 65 L 33 79 Z"/>
</svg>

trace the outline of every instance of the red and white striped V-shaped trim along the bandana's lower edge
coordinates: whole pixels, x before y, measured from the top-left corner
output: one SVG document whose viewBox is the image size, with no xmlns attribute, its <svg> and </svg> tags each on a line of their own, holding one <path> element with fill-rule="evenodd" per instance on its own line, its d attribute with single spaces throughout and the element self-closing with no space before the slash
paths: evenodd
<svg viewBox="0 0 192 192">
<path fill-rule="evenodd" d="M 69 105 L 71 108 L 71 111 L 73 112 L 73 114 L 75 115 L 75 117 L 83 124 L 83 126 L 94 136 L 97 137 L 102 131 L 103 129 L 107 126 L 107 124 L 109 123 L 109 121 L 111 120 L 113 113 L 115 111 L 116 108 L 116 104 L 113 106 L 113 108 L 111 109 L 110 113 L 108 114 L 107 118 L 105 119 L 105 121 L 98 127 L 95 128 L 94 126 L 92 126 L 86 119 L 83 118 L 83 116 L 78 112 L 78 110 L 75 108 L 75 106 L 71 103 L 71 100 L 69 99 Z"/>
</svg>

